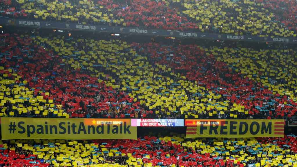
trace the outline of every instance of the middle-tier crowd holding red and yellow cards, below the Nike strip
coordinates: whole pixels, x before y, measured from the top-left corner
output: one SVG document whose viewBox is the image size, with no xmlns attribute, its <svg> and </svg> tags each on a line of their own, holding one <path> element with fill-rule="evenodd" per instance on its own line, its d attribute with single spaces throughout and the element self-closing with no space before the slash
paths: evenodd
<svg viewBox="0 0 297 167">
<path fill-rule="evenodd" d="M 296 53 L 291 49 L 18 34 L 1 34 L 0 49 L 0 116 L 275 119 L 296 115 Z"/>
</svg>

